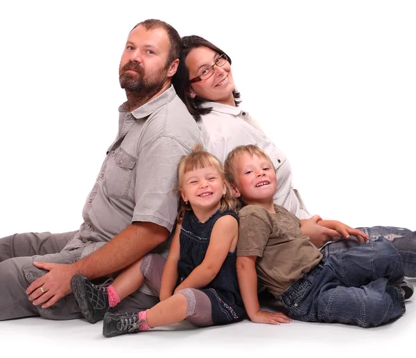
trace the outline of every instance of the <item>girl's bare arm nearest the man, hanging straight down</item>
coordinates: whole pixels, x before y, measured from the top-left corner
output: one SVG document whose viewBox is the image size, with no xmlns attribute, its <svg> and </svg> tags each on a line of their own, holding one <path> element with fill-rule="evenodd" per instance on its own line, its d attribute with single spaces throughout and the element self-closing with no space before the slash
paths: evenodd
<svg viewBox="0 0 416 358">
<path fill-rule="evenodd" d="M 171 249 L 169 249 L 168 258 L 163 268 L 159 293 L 160 301 L 164 301 L 173 295 L 173 289 L 175 289 L 177 283 L 177 261 L 180 259 L 179 234 L 181 227 L 182 224 L 177 224 L 173 234 Z"/>
</svg>

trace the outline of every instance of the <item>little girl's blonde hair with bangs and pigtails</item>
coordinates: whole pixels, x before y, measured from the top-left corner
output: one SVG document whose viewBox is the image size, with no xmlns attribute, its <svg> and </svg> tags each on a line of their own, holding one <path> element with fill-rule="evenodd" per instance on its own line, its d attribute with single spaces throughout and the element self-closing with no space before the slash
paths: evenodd
<svg viewBox="0 0 416 358">
<path fill-rule="evenodd" d="M 218 174 L 220 174 L 220 178 L 225 182 L 226 186 L 226 192 L 223 197 L 221 197 L 220 202 L 220 212 L 223 211 L 236 211 L 237 206 L 239 205 L 239 202 L 236 200 L 236 198 L 232 195 L 231 189 L 229 187 L 229 184 L 227 180 L 225 179 L 225 173 L 223 170 L 223 164 L 217 159 L 216 156 L 209 152 L 205 152 L 205 150 L 202 150 L 201 144 L 196 144 L 193 146 L 193 150 L 188 155 L 182 156 L 180 159 L 179 165 L 177 165 L 177 184 L 175 186 L 175 193 L 177 193 L 178 199 L 179 199 L 179 209 L 177 212 L 177 222 L 182 222 L 182 219 L 184 217 L 185 211 L 191 211 L 191 204 L 185 203 L 182 199 L 182 196 L 180 195 L 180 188 L 182 185 L 182 180 L 184 177 L 184 174 L 187 172 L 191 172 L 192 170 L 198 170 L 200 168 L 207 168 L 212 167 L 215 168 L 218 171 Z"/>
</svg>

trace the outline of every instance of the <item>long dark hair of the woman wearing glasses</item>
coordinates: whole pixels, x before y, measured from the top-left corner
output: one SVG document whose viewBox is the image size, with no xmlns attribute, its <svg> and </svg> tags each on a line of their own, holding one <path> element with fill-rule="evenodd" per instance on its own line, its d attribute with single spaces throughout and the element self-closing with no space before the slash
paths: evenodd
<svg viewBox="0 0 416 358">
<path fill-rule="evenodd" d="M 210 107 L 204 108 L 200 106 L 203 102 L 209 102 L 209 100 L 198 96 L 196 96 L 195 98 L 191 98 L 189 96 L 191 84 L 189 83 L 189 69 L 187 67 L 187 64 L 185 63 L 185 60 L 187 59 L 187 56 L 189 55 L 191 50 L 193 50 L 193 48 L 198 48 L 201 46 L 211 48 L 211 50 L 215 51 L 220 55 L 225 53 L 220 48 L 218 48 L 217 46 L 200 36 L 184 36 L 182 37 L 182 50 L 180 51 L 179 56 L 179 66 L 177 66 L 177 71 L 172 78 L 172 84 L 173 87 L 175 87 L 177 96 L 179 96 L 182 102 L 184 102 L 184 104 L 187 106 L 189 113 L 192 114 L 193 118 L 195 118 L 196 120 L 199 120 L 200 116 L 208 114 L 212 110 L 212 108 Z M 225 55 L 227 54 L 225 53 Z M 231 58 L 229 58 L 229 55 L 227 55 L 227 57 L 229 64 L 231 64 Z M 238 106 L 241 102 L 240 100 L 238 100 L 240 98 L 240 93 L 239 91 L 234 89 L 234 91 L 232 91 L 232 94 L 234 96 L 234 102 L 236 106 Z"/>
</svg>

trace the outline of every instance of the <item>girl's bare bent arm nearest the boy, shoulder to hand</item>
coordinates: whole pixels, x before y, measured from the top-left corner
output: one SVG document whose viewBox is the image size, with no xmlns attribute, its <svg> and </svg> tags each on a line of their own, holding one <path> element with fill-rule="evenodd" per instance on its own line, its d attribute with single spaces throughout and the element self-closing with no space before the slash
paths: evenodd
<svg viewBox="0 0 416 358">
<path fill-rule="evenodd" d="M 236 218 L 232 215 L 220 217 L 212 228 L 204 260 L 176 287 L 175 292 L 185 288 L 202 288 L 214 280 L 232 244 L 236 246 L 238 236 L 239 223 Z"/>
</svg>

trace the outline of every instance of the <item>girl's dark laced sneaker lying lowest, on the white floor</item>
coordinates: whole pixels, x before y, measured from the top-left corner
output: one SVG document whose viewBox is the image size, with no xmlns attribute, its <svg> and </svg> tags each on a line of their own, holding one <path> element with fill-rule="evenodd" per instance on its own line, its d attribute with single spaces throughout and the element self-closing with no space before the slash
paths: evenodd
<svg viewBox="0 0 416 358">
<path fill-rule="evenodd" d="M 139 325 L 146 323 L 146 319 L 139 320 L 137 312 L 107 312 L 104 316 L 103 336 L 115 337 L 120 334 L 137 333 L 139 332 Z"/>
</svg>

